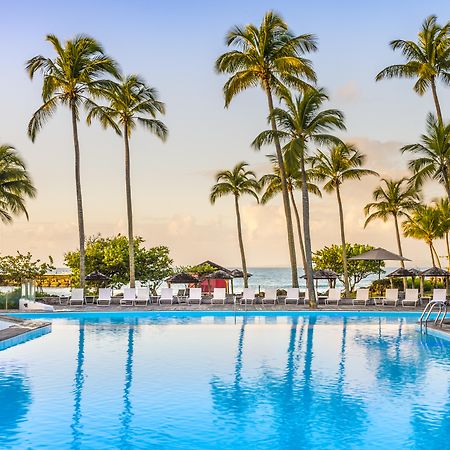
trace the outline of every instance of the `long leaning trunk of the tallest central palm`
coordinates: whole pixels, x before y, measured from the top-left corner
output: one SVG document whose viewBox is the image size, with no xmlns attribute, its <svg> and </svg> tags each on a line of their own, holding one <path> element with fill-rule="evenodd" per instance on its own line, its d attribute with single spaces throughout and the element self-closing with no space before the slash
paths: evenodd
<svg viewBox="0 0 450 450">
<path fill-rule="evenodd" d="M 292 277 L 292 287 L 298 287 L 298 271 L 297 271 L 297 257 L 295 254 L 295 241 L 294 241 L 294 227 L 292 225 L 292 215 L 291 215 L 291 207 L 289 204 L 289 194 L 287 188 L 286 181 L 286 171 L 284 169 L 284 158 L 283 153 L 281 151 L 280 140 L 276 135 L 277 132 L 277 124 L 275 122 L 275 118 L 272 116 L 273 112 L 273 99 L 272 99 L 272 91 L 268 83 L 266 83 L 266 93 L 267 93 L 267 102 L 269 104 L 269 113 L 271 115 L 270 122 L 272 126 L 272 131 L 274 132 L 274 143 L 275 150 L 277 154 L 278 166 L 280 168 L 280 179 L 281 179 L 281 191 L 283 196 L 283 205 L 284 205 L 284 214 L 286 216 L 286 229 L 287 229 L 287 238 L 288 238 L 288 247 L 289 247 L 289 259 L 291 263 L 291 277 Z"/>
</svg>

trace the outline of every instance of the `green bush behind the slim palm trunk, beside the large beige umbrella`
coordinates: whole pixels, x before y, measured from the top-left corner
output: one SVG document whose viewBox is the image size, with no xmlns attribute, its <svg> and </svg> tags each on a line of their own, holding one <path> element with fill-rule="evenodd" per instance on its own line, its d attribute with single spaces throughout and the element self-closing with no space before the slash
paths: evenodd
<svg viewBox="0 0 450 450">
<path fill-rule="evenodd" d="M 347 244 L 347 257 L 360 255 L 361 253 L 373 250 L 374 247 L 364 244 Z M 344 264 L 342 261 L 341 245 L 333 244 L 324 247 L 313 254 L 314 270 L 329 269 L 336 272 L 339 280 L 343 282 Z M 355 285 L 364 278 L 372 274 L 377 274 L 379 267 L 384 268 L 384 262 L 381 265 L 378 261 L 348 261 L 348 276 L 350 289 L 353 290 Z"/>
</svg>

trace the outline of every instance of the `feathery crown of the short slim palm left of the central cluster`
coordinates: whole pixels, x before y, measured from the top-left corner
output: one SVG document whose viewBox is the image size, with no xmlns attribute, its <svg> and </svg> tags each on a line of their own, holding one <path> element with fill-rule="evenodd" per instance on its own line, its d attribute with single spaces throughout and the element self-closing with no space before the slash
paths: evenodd
<svg viewBox="0 0 450 450">
<path fill-rule="evenodd" d="M 240 197 L 249 194 L 257 201 L 260 189 L 258 180 L 253 171 L 247 170 L 248 164 L 240 162 L 232 170 L 223 170 L 216 175 L 216 184 L 211 189 L 210 201 L 212 204 L 220 197 L 234 195 Z"/>
</svg>

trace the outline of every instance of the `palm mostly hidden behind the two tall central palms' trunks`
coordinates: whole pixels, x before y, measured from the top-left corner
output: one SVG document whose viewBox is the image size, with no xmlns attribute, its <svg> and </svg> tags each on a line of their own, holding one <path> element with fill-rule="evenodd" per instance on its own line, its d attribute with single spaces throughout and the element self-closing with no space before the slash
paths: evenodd
<svg viewBox="0 0 450 450">
<path fill-rule="evenodd" d="M 263 175 L 259 183 L 261 188 L 265 187 L 265 191 L 261 196 L 261 204 L 265 205 L 269 200 L 271 200 L 276 194 L 281 192 L 281 177 L 280 177 L 280 169 L 278 168 L 278 160 L 275 155 L 268 155 L 272 163 L 273 172 Z M 300 214 L 297 208 L 297 202 L 295 201 L 294 191 L 297 189 L 302 189 L 302 177 L 300 173 L 300 169 L 298 167 L 298 160 L 293 158 L 285 158 L 285 172 L 286 172 L 286 181 L 288 185 L 289 198 L 291 200 L 291 205 L 294 210 L 295 220 L 297 223 L 297 233 L 298 240 L 300 243 L 300 251 L 302 254 L 303 261 L 303 269 L 306 267 L 306 254 L 305 254 L 305 244 L 303 242 L 303 233 L 302 233 L 302 221 L 300 218 Z M 314 183 L 309 182 L 310 173 L 307 173 L 308 180 L 308 191 L 312 194 L 315 194 L 319 197 L 322 197 L 322 193 L 320 189 Z"/>
</svg>

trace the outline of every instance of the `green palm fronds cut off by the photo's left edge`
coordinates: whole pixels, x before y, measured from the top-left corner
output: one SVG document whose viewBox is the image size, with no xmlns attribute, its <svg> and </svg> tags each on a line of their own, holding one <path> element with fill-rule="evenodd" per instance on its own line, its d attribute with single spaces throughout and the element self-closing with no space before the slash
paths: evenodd
<svg viewBox="0 0 450 450">
<path fill-rule="evenodd" d="M 13 216 L 28 212 L 25 197 L 34 198 L 36 189 L 25 162 L 10 145 L 0 145 L 0 219 L 11 223 Z"/>
</svg>

